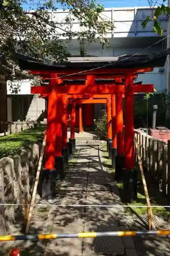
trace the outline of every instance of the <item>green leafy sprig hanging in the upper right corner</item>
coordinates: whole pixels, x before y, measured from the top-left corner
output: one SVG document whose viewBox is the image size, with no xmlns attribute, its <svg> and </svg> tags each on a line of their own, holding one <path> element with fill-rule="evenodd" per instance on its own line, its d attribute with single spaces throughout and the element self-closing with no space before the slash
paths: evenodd
<svg viewBox="0 0 170 256">
<path fill-rule="evenodd" d="M 148 0 L 148 2 L 150 3 L 149 0 Z M 143 28 L 145 28 L 145 27 L 147 27 L 148 22 L 150 22 L 150 20 L 153 20 L 153 23 L 154 23 L 153 24 L 153 31 L 154 31 L 154 33 L 157 33 L 160 36 L 162 36 L 163 35 L 163 29 L 162 29 L 161 23 L 159 21 L 159 17 L 160 17 L 161 14 L 169 16 L 170 7 L 165 6 L 163 3 L 162 3 L 161 6 L 158 6 L 155 11 L 154 11 L 155 6 L 152 6 L 151 3 L 150 3 L 150 7 L 151 7 L 151 10 L 152 10 L 152 15 L 148 16 L 145 20 L 143 20 L 141 25 L 142 25 Z"/>
</svg>

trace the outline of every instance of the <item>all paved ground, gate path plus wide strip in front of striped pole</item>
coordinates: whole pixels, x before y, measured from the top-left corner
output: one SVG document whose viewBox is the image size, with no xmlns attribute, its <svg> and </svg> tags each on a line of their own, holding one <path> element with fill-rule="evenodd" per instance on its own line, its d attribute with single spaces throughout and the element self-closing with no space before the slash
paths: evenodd
<svg viewBox="0 0 170 256">
<path fill-rule="evenodd" d="M 33 233 L 81 231 L 118 231 L 134 229 L 132 215 L 124 208 L 104 205 L 122 204 L 111 174 L 102 164 L 102 144 L 77 145 L 77 161 L 65 180 L 57 186 L 55 204 L 99 205 L 98 207 L 36 207 L 32 218 Z M 37 198 L 38 200 L 38 198 Z M 43 202 L 43 201 L 41 201 Z M 40 202 L 39 202 L 40 203 Z M 45 202 L 46 203 L 46 202 Z M 103 205 L 103 207 L 101 206 Z M 58 256 L 152 256 L 169 255 L 169 239 L 111 237 L 18 242 L 21 255 Z M 136 249 L 135 249 L 136 248 Z"/>
</svg>

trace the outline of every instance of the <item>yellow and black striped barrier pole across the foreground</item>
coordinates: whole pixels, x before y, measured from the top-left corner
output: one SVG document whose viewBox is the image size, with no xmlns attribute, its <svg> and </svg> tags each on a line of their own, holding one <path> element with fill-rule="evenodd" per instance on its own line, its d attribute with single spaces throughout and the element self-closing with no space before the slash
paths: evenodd
<svg viewBox="0 0 170 256">
<path fill-rule="evenodd" d="M 1 241 L 16 240 L 45 240 L 61 238 L 96 238 L 96 237 L 135 237 L 135 236 L 169 236 L 170 229 L 139 230 L 139 231 L 112 231 L 112 232 L 82 232 L 60 234 L 21 234 L 18 236 L 0 236 Z"/>
</svg>

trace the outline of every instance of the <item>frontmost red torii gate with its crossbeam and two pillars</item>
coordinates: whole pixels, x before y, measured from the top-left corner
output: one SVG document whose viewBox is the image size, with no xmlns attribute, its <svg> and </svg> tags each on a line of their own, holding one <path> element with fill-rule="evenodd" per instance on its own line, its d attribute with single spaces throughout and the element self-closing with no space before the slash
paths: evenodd
<svg viewBox="0 0 170 256">
<path fill-rule="evenodd" d="M 151 69 L 150 69 L 151 70 Z M 153 84 L 135 84 L 133 85 L 133 74 L 125 72 L 125 85 L 114 84 L 96 84 L 94 75 L 87 75 L 87 80 L 85 85 L 78 86 L 78 84 L 70 85 L 65 83 L 65 86 L 59 86 L 62 84 L 61 79 L 58 78 L 57 74 L 52 73 L 50 75 L 50 86 L 49 87 L 33 87 L 33 94 L 44 94 L 47 93 L 48 96 L 48 114 L 47 114 L 47 138 L 46 138 L 46 169 L 54 169 L 55 158 L 61 164 L 62 159 L 62 105 L 64 103 L 64 95 L 93 95 L 93 94 L 111 94 L 112 96 L 112 123 L 114 126 L 114 115 L 115 106 L 113 106 L 114 95 L 125 94 L 125 169 L 126 172 L 124 187 L 129 190 L 129 180 L 134 178 L 134 128 L 133 128 L 133 93 L 139 92 L 153 92 Z M 65 105 L 65 104 L 64 104 Z M 55 109 L 55 110 L 54 110 Z M 58 110 L 58 111 L 56 111 Z M 128 110 L 128 112 L 127 112 Z M 58 115 L 57 115 L 58 112 Z M 50 120 L 49 120 L 50 119 Z M 52 120 L 52 121 L 51 121 Z M 55 141 L 55 129 L 56 129 L 56 141 Z M 54 133 L 54 134 L 53 134 Z M 53 136 L 53 138 L 52 138 Z M 115 137 L 115 136 L 114 136 Z M 113 140 L 113 142 L 115 139 Z M 113 143 L 113 146 L 114 145 Z M 56 149 L 55 149 L 56 147 Z M 63 161 L 63 160 L 62 160 Z M 58 165 L 59 166 L 59 165 Z M 127 193 L 127 191 L 125 192 Z M 131 197 L 136 197 L 134 191 L 130 191 Z"/>
</svg>

